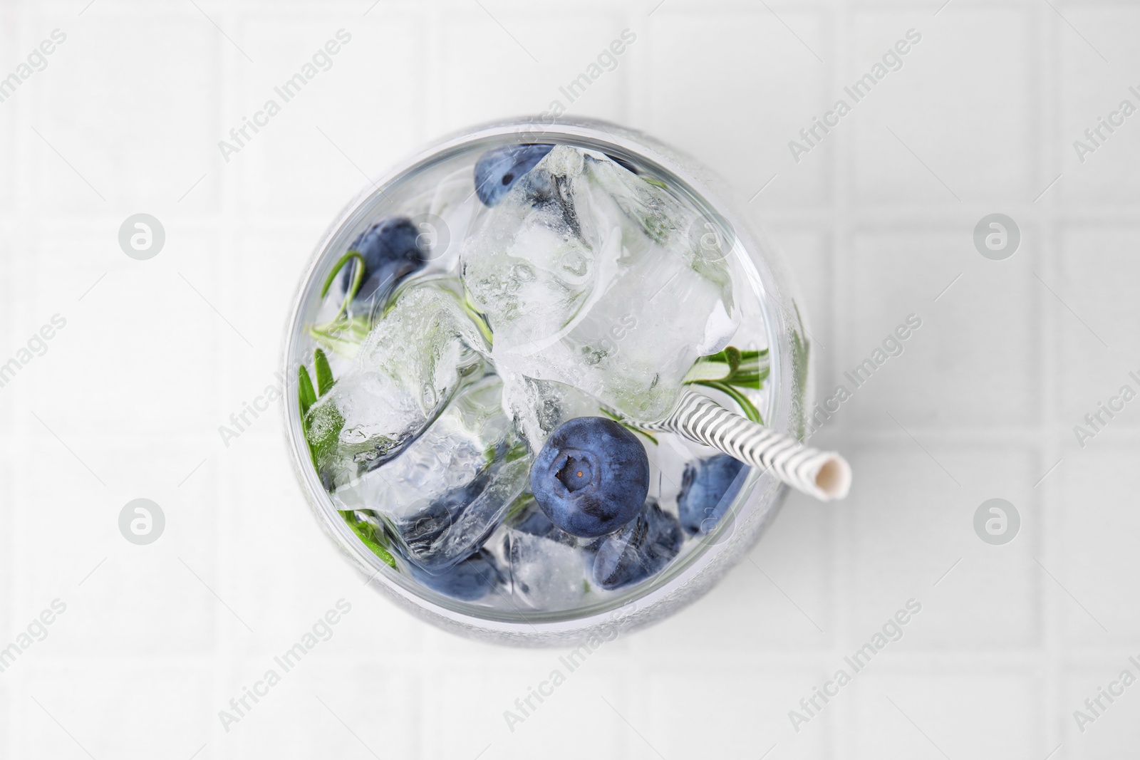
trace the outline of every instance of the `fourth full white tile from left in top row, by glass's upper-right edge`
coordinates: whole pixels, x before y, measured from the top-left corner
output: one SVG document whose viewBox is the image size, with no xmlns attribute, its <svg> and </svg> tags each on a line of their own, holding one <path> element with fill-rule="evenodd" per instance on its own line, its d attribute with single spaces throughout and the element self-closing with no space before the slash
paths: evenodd
<svg viewBox="0 0 1140 760">
<path fill-rule="evenodd" d="M 773 174 L 776 179 L 756 204 L 811 204 L 829 197 L 834 144 L 822 145 L 799 163 L 788 148 L 832 101 L 828 66 L 816 58 L 830 60 L 832 55 L 824 14 L 782 9 L 777 18 L 756 9 L 709 16 L 663 6 L 644 38 L 649 50 L 641 52 L 649 55 L 650 65 L 641 126 L 706 162 L 742 201 Z"/>
</svg>

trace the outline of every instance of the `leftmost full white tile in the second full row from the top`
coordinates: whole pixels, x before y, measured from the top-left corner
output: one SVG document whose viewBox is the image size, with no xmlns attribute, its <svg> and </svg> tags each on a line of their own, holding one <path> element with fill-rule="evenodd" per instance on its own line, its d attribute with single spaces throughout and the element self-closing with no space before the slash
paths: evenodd
<svg viewBox="0 0 1140 760">
<path fill-rule="evenodd" d="M 155 259 L 135 261 L 116 224 L 46 232 L 22 264 L 21 336 L 66 324 L 7 390 L 65 439 L 199 432 L 217 417 L 215 350 L 242 337 L 219 316 L 230 309 L 214 243 L 173 223 L 166 236 Z"/>
</svg>

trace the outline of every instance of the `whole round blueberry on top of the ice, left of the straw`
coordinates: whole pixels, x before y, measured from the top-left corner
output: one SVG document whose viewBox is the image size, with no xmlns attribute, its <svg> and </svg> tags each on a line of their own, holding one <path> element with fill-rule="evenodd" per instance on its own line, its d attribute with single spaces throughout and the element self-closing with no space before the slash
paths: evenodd
<svg viewBox="0 0 1140 760">
<path fill-rule="evenodd" d="M 538 452 L 530 491 L 551 522 L 571 536 L 612 533 L 645 502 L 645 447 L 612 419 L 575 417 L 555 427 Z"/>
</svg>

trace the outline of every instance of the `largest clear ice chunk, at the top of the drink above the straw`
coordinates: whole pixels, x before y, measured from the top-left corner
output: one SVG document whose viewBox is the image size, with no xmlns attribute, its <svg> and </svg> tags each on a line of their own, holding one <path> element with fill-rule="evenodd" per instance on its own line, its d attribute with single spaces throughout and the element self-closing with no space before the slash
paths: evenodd
<svg viewBox="0 0 1140 760">
<path fill-rule="evenodd" d="M 551 150 L 461 254 L 507 384 L 555 381 L 632 418 L 665 417 L 693 361 L 739 324 L 728 252 L 694 244 L 699 222 L 605 156 Z"/>
</svg>

